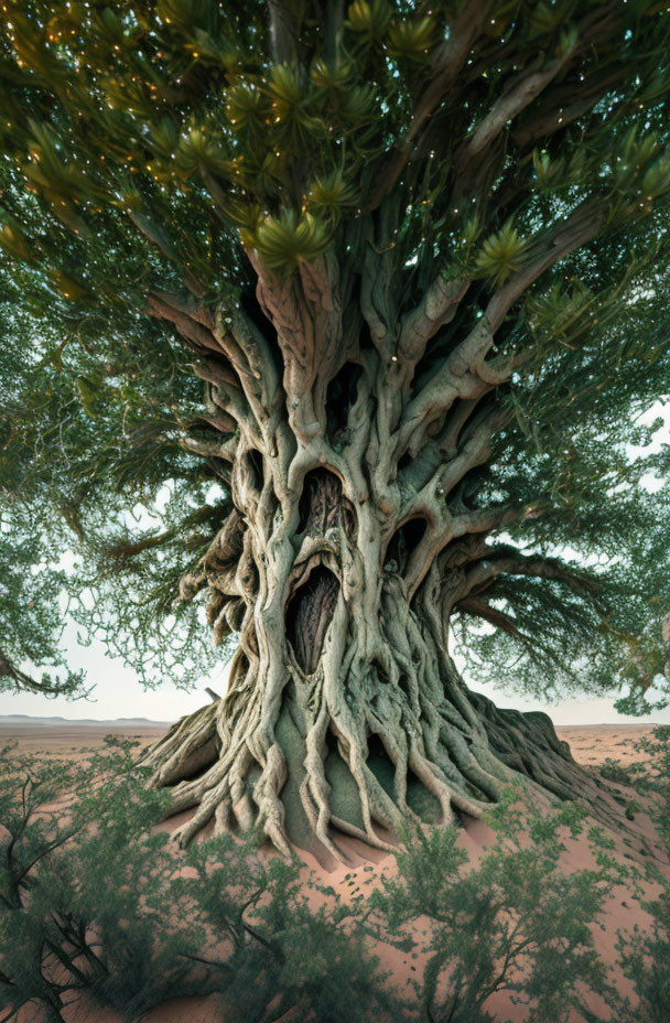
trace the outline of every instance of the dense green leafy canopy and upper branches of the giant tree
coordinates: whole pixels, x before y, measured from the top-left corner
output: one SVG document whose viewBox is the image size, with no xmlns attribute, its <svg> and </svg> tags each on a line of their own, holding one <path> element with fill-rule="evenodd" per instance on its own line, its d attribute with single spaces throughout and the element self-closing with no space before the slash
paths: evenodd
<svg viewBox="0 0 670 1023">
<path fill-rule="evenodd" d="M 489 435 L 450 496 L 479 524 L 472 670 L 644 709 L 670 610 L 670 495 L 645 485 L 668 455 L 631 456 L 670 389 L 667 4 L 6 0 L 2 22 L 0 686 L 50 685 L 25 661 L 80 685 L 64 591 L 149 685 L 220 656 L 180 580 L 231 508 L 212 384 L 253 367 L 194 311 L 233 337 L 241 310 L 278 353 L 259 279 L 336 260 L 345 335 L 393 325 L 414 480 L 445 367 L 486 334 Z"/>
</svg>

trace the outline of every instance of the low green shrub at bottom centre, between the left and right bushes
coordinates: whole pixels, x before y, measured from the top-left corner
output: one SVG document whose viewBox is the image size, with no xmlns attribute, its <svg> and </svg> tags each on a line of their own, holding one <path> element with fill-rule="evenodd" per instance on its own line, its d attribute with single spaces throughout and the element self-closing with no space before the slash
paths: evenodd
<svg viewBox="0 0 670 1023">
<path fill-rule="evenodd" d="M 365 947 L 360 911 L 332 889 L 305 884 L 299 860 L 259 858 L 225 836 L 192 847 L 187 863 L 193 876 L 177 882 L 180 895 L 214 943 L 228 939 L 229 955 L 213 966 L 227 1019 L 260 1023 L 290 1010 L 296 1023 L 400 1019 L 388 976 Z"/>
</svg>

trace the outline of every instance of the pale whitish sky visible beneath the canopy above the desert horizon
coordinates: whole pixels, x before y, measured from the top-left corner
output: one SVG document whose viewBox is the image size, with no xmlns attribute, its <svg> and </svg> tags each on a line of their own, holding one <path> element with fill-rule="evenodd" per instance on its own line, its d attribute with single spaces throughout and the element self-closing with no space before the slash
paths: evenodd
<svg viewBox="0 0 670 1023">
<path fill-rule="evenodd" d="M 653 444 L 647 450 L 648 452 L 670 443 L 670 405 L 655 405 L 642 421 L 652 422 L 658 417 L 663 418 L 664 426 L 656 433 Z M 635 450 L 630 450 L 631 457 L 635 457 L 636 453 Z M 658 482 L 650 477 L 648 486 L 653 489 L 658 486 Z M 210 686 L 221 694 L 226 691 L 227 670 L 223 660 L 220 668 L 215 669 L 210 677 L 204 678 L 202 686 L 192 692 L 176 689 L 169 679 L 159 689 L 143 690 L 134 672 L 127 668 L 122 660 L 109 657 L 102 643 L 94 640 L 90 646 L 80 646 L 77 643 L 77 632 L 74 625 L 67 626 L 64 632 L 63 648 L 67 654 L 69 667 L 74 670 L 83 668 L 87 675 L 87 683 L 89 686 L 95 683 L 90 698 L 73 701 L 58 697 L 48 700 L 43 696 L 30 693 L 2 693 L 0 714 L 34 717 L 57 714 L 63 718 L 101 720 L 149 718 L 153 721 L 175 721 L 183 714 L 192 713 L 209 702 L 209 697 L 204 691 L 205 686 Z M 539 700 L 521 699 L 516 693 L 506 692 L 502 686 L 499 688 L 473 686 L 473 689 L 485 692 L 499 707 L 514 707 L 521 711 L 545 711 L 555 724 L 620 724 L 625 722 L 670 724 L 670 708 L 656 711 L 648 718 L 618 714 L 614 709 L 614 701 L 618 693 L 597 698 L 573 697 L 549 704 Z"/>
</svg>

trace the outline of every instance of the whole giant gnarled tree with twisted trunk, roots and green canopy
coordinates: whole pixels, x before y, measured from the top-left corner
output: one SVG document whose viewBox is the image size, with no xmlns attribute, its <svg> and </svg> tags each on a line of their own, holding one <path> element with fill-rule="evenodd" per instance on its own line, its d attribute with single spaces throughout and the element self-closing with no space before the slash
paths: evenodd
<svg viewBox="0 0 670 1023">
<path fill-rule="evenodd" d="M 190 601 L 237 638 L 151 754 L 181 838 L 385 848 L 518 773 L 597 811 L 449 637 L 637 707 L 662 667 L 662 456 L 627 445 L 668 390 L 663 4 L 2 18 L 3 500 L 69 524 L 75 613 L 150 679 L 193 677 Z"/>
</svg>

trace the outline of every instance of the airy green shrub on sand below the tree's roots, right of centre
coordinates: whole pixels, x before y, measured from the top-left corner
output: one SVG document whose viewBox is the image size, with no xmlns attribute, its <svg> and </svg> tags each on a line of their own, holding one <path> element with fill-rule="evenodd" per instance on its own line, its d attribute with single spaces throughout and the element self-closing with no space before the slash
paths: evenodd
<svg viewBox="0 0 670 1023">
<path fill-rule="evenodd" d="M 491 811 L 497 840 L 474 870 L 456 829 L 415 829 L 397 854 L 398 877 L 372 896 L 371 919 L 400 947 L 413 944 L 420 917 L 430 922 L 415 946 L 428 956 L 414 986 L 423 1020 L 493 1023 L 487 1002 L 507 991 L 529 1006 L 529 1019 L 560 1023 L 586 1010 L 586 992 L 609 990 L 590 925 L 620 869 L 594 830 L 598 869 L 564 874 L 562 836 L 582 830 L 582 811 L 566 804 L 542 818 L 516 807 L 518 798 L 509 792 Z"/>
</svg>

